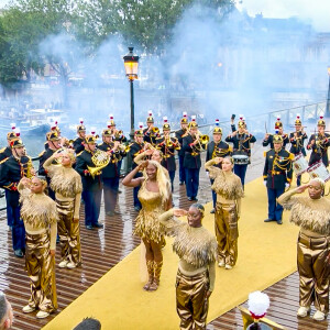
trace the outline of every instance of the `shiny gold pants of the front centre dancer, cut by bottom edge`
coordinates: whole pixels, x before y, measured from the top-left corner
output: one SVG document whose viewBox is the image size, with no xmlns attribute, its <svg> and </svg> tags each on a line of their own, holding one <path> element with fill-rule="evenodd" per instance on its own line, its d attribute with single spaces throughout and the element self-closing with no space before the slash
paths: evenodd
<svg viewBox="0 0 330 330">
<path fill-rule="evenodd" d="M 176 310 L 180 318 L 180 329 L 206 329 L 209 299 L 209 273 L 205 271 L 195 276 L 176 275 Z"/>
</svg>

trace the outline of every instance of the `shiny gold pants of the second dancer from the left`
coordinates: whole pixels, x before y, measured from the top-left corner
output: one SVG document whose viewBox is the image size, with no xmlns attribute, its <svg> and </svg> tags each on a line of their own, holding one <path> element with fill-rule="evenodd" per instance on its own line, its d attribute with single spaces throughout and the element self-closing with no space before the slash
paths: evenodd
<svg viewBox="0 0 330 330">
<path fill-rule="evenodd" d="M 81 264 L 80 227 L 74 222 L 75 201 L 56 200 L 59 221 L 57 232 L 61 241 L 61 261 L 67 260 L 76 266 Z"/>
</svg>

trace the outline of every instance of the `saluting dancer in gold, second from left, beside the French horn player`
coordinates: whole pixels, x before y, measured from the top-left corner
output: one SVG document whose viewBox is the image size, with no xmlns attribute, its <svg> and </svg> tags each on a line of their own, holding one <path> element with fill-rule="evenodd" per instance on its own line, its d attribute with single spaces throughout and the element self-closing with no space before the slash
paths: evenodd
<svg viewBox="0 0 330 330">
<path fill-rule="evenodd" d="M 75 162 L 74 151 L 66 148 L 44 163 L 51 178 L 51 188 L 55 191 L 59 216 L 57 230 L 62 244 L 61 268 L 75 268 L 81 264 L 79 208 L 82 184 L 80 175 L 73 168 Z"/>
</svg>

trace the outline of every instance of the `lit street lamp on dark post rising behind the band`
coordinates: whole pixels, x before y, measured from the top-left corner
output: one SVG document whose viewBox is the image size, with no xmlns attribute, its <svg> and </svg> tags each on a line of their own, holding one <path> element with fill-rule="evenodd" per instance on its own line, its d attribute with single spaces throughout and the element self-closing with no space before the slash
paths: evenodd
<svg viewBox="0 0 330 330">
<path fill-rule="evenodd" d="M 127 77 L 130 81 L 131 89 L 131 142 L 134 141 L 134 87 L 133 81 L 138 79 L 139 56 L 133 54 L 134 47 L 129 47 L 129 53 L 123 56 Z"/>
</svg>

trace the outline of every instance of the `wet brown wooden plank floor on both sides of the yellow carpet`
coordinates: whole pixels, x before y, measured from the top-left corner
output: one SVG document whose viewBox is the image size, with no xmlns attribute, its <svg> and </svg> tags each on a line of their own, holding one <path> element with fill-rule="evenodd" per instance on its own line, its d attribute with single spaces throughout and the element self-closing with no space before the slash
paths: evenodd
<svg viewBox="0 0 330 330">
<path fill-rule="evenodd" d="M 248 169 L 248 180 L 262 173 L 263 161 L 260 158 L 261 148 L 255 152 L 253 165 Z M 211 200 L 209 179 L 205 170 L 200 172 L 199 201 Z M 136 212 L 133 209 L 132 189 L 121 187 L 118 210 L 120 216 L 106 217 L 101 206 L 100 221 L 105 229 L 87 231 L 84 226 L 84 208 L 80 209 L 82 267 L 76 270 L 61 270 L 56 267 L 56 284 L 58 296 L 58 311 L 44 320 L 37 320 L 35 312 L 24 315 L 21 309 L 26 305 L 30 296 L 29 277 L 24 271 L 24 260 L 13 256 L 11 233 L 8 230 L 6 212 L 0 212 L 0 289 L 2 289 L 12 304 L 14 310 L 14 324 L 12 329 L 34 330 L 41 329 L 54 318 L 68 304 L 81 295 L 88 287 L 105 275 L 112 266 L 127 256 L 140 240 L 132 235 Z M 178 185 L 176 174 L 174 204 L 177 207 L 188 208 L 191 204 L 185 195 L 185 186 Z M 56 264 L 59 261 L 57 249 Z M 328 329 L 327 322 L 314 322 L 310 319 L 298 320 L 298 276 L 293 274 L 270 287 L 266 293 L 271 297 L 268 316 L 288 329 Z M 219 317 L 208 329 L 242 329 L 242 319 L 237 308 Z M 329 328 L 330 329 L 330 328 Z M 65 330 L 65 329 L 64 329 Z M 140 330 L 140 329 L 138 329 Z"/>
</svg>

